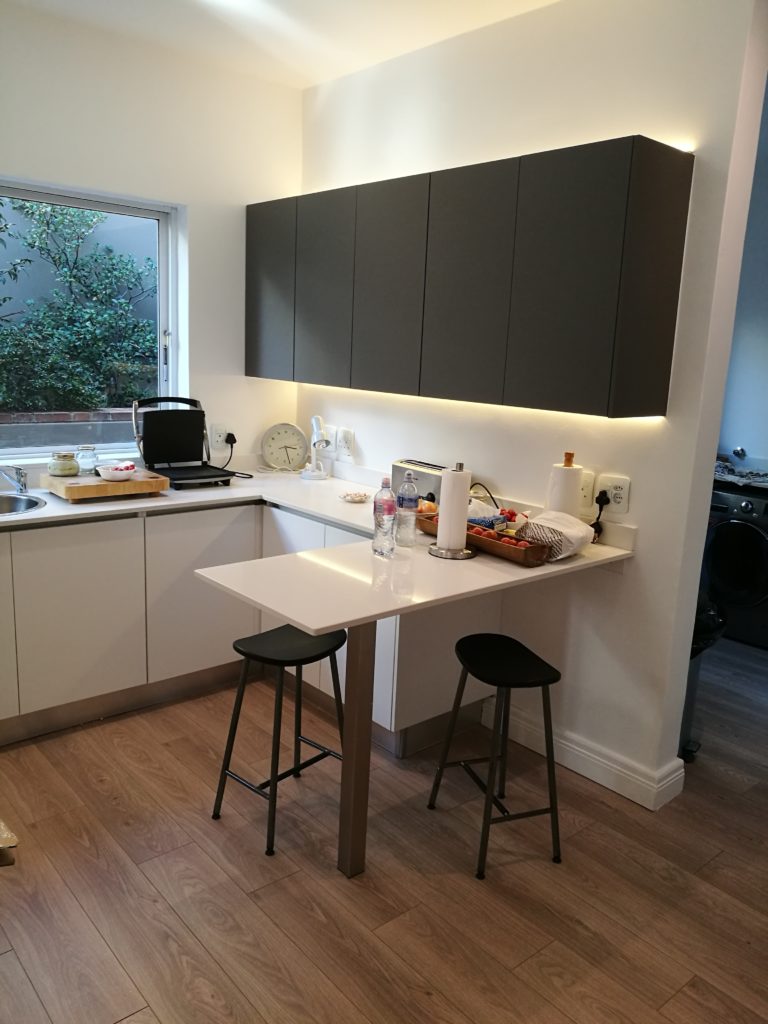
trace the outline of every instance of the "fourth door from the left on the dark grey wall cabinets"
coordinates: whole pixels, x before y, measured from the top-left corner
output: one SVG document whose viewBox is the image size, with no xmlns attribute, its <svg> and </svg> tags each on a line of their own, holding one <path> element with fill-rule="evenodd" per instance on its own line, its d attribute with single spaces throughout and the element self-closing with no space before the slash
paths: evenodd
<svg viewBox="0 0 768 1024">
<path fill-rule="evenodd" d="M 431 176 L 420 394 L 502 401 L 518 169 Z"/>
</svg>

